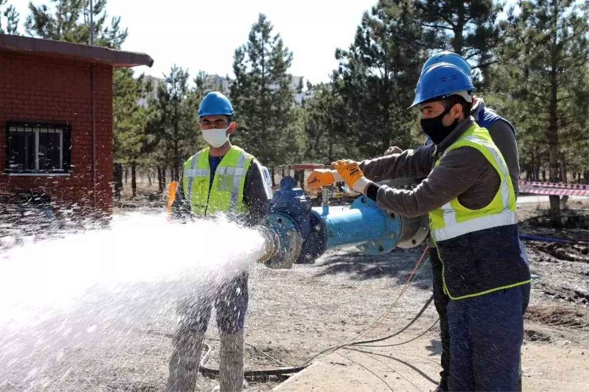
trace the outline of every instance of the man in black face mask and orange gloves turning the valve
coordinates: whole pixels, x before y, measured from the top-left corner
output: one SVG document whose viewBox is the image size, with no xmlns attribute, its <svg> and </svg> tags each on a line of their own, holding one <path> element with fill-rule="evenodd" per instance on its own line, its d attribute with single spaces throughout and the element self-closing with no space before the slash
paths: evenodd
<svg viewBox="0 0 589 392">
<path fill-rule="evenodd" d="M 343 179 L 386 210 L 429 214 L 443 265 L 452 392 L 518 390 L 530 269 L 519 242 L 515 190 L 487 129 L 471 116 L 471 79 L 453 64 L 425 69 L 411 105 L 434 144 L 315 170 L 309 188 Z M 371 179 L 425 177 L 413 190 Z"/>
</svg>

